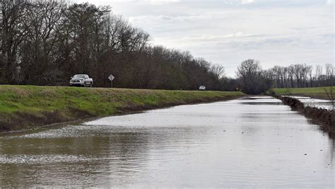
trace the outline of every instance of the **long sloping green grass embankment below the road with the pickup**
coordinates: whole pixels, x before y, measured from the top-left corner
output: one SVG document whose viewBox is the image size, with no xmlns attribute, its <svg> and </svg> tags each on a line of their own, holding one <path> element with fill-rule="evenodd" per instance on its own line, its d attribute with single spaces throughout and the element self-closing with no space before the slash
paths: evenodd
<svg viewBox="0 0 335 189">
<path fill-rule="evenodd" d="M 0 131 L 242 96 L 220 91 L 0 86 Z"/>
</svg>

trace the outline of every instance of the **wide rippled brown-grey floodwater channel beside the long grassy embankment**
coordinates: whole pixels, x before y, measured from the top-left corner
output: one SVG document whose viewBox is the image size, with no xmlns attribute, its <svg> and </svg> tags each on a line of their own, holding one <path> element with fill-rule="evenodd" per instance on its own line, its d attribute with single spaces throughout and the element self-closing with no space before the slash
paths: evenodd
<svg viewBox="0 0 335 189">
<path fill-rule="evenodd" d="M 269 97 L 0 136 L 5 187 L 334 188 L 334 140 Z"/>
</svg>

